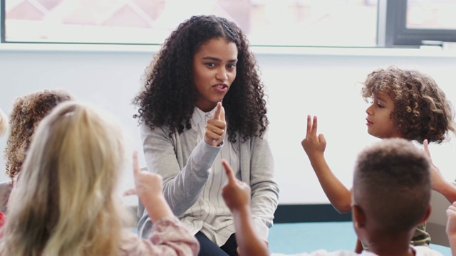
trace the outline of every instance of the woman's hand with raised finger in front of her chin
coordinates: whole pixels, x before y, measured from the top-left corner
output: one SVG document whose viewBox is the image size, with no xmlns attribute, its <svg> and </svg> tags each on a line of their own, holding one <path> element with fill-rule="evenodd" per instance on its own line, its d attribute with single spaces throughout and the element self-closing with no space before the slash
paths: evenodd
<svg viewBox="0 0 456 256">
<path fill-rule="evenodd" d="M 214 117 L 207 120 L 204 141 L 211 146 L 219 146 L 223 142 L 226 131 L 225 110 L 222 107 L 222 102 L 217 102 L 217 110 L 215 110 Z"/>
</svg>

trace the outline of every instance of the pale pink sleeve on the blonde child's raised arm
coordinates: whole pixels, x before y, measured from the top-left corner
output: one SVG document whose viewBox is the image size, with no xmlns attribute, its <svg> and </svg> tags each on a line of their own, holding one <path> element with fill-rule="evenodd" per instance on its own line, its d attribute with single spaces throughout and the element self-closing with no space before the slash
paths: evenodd
<svg viewBox="0 0 456 256">
<path fill-rule="evenodd" d="M 125 232 L 121 255 L 197 255 L 199 243 L 175 216 L 153 224 L 148 240 Z"/>
</svg>

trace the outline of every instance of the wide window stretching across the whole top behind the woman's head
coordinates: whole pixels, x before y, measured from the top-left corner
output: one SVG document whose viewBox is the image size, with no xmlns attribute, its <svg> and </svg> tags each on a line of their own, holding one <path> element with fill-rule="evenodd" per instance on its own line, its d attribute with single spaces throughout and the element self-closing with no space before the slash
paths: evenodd
<svg viewBox="0 0 456 256">
<path fill-rule="evenodd" d="M 456 0 L 0 0 L 1 43 L 161 44 L 192 15 L 253 46 L 418 47 L 456 41 Z"/>
</svg>

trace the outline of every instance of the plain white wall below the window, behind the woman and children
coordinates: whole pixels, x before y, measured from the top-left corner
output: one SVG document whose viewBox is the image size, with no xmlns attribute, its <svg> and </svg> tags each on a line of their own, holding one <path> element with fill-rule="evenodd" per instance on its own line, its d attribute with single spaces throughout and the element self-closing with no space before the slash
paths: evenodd
<svg viewBox="0 0 456 256">
<path fill-rule="evenodd" d="M 316 114 L 328 141 L 326 158 L 336 175 L 351 186 L 353 162 L 375 139 L 366 132 L 366 102 L 361 82 L 375 68 L 390 64 L 417 68 L 432 75 L 456 104 L 456 55 L 424 50 L 305 48 L 301 53 L 267 53 L 254 48 L 268 97 L 269 141 L 281 188 L 280 203 L 328 203 L 301 148 L 306 114 Z M 141 152 L 137 122 L 130 101 L 152 50 L 11 50 L 0 48 L 0 108 L 6 113 L 16 97 L 37 90 L 62 88 L 78 100 L 93 102 L 117 115 Z M 455 143 L 431 144 L 435 164 L 446 178 L 456 178 Z M 6 137 L 0 138 L 0 149 Z M 144 164 L 140 154 L 141 165 Z M 0 180 L 4 159 L 0 159 Z M 130 165 L 128 165 L 130 166 Z M 121 190 L 133 186 L 125 170 Z M 125 198 L 135 203 L 135 198 Z"/>
</svg>

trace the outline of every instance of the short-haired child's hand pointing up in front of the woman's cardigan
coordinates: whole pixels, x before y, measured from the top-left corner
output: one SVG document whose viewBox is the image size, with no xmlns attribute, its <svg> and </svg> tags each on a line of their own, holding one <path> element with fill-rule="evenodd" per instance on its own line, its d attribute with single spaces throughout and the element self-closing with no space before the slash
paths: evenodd
<svg viewBox="0 0 456 256">
<path fill-rule="evenodd" d="M 236 211 L 244 207 L 250 207 L 250 187 L 247 183 L 239 181 L 234 177 L 231 166 L 222 159 L 228 183 L 222 188 L 222 196 L 229 210 Z"/>
</svg>

